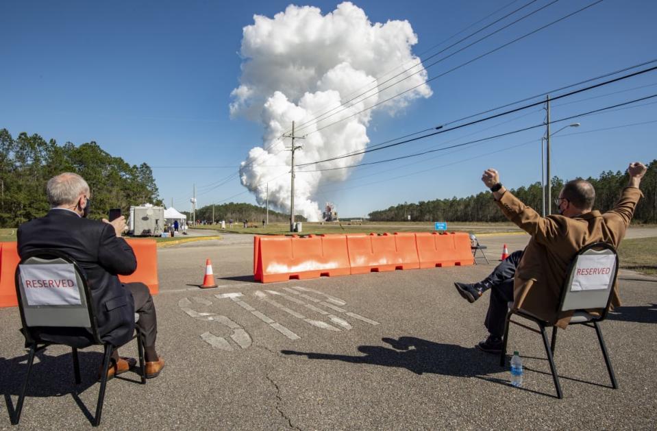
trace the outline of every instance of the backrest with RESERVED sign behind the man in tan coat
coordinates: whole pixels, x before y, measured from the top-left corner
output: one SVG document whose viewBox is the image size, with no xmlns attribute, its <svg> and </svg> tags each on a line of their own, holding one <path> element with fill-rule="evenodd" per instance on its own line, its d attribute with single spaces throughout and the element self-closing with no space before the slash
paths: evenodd
<svg viewBox="0 0 657 431">
<path fill-rule="evenodd" d="M 617 274 L 618 254 L 612 245 L 587 245 L 571 262 L 562 291 L 560 310 L 602 308 L 604 319 Z"/>
</svg>

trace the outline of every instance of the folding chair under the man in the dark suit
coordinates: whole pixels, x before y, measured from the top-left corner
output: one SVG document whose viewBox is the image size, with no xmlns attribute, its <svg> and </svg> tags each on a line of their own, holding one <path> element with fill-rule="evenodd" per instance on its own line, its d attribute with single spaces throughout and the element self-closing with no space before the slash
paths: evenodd
<svg viewBox="0 0 657 431">
<path fill-rule="evenodd" d="M 73 349 L 73 372 L 75 384 L 80 384 L 79 360 L 77 349 L 90 345 L 104 347 L 103 368 L 101 371 L 101 386 L 96 404 L 96 415 L 93 426 L 99 426 L 105 399 L 107 373 L 110 367 L 110 357 L 115 346 L 103 343 L 98 334 L 91 291 L 86 282 L 84 271 L 75 260 L 58 250 L 45 249 L 24 256 L 16 268 L 16 296 L 18 309 L 21 312 L 25 336 L 25 347 L 29 347 L 27 373 L 25 382 L 16 402 L 15 417 L 12 424 L 18 424 L 23 410 L 23 401 L 29 373 L 34 363 L 34 355 L 49 345 L 63 344 Z M 137 315 L 135 315 L 137 317 Z M 52 343 L 40 338 L 42 332 L 69 330 L 75 332 L 70 343 Z M 141 334 L 136 329 L 141 384 L 146 383 L 144 347 Z M 82 335 L 82 336 L 81 336 Z"/>
</svg>

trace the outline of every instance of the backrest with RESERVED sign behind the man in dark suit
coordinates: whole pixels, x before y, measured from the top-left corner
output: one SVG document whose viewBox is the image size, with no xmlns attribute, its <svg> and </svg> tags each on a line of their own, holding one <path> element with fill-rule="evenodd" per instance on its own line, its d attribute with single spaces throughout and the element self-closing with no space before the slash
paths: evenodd
<svg viewBox="0 0 657 431">
<path fill-rule="evenodd" d="M 91 292 L 75 260 L 58 250 L 40 250 L 16 267 L 16 296 L 26 338 L 30 328 L 86 328 L 98 341 Z"/>
</svg>

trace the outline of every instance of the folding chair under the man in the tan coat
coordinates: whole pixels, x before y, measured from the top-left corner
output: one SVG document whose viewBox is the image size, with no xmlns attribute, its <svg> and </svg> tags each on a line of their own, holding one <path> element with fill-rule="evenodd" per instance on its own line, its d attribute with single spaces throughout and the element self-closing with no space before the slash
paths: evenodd
<svg viewBox="0 0 657 431">
<path fill-rule="evenodd" d="M 611 294 L 617 274 L 618 255 L 614 247 L 607 243 L 594 243 L 587 245 L 578 252 L 575 258 L 573 258 L 573 262 L 570 264 L 557 310 L 559 314 L 562 311 L 573 311 L 573 317 L 569 325 L 584 325 L 595 329 L 613 389 L 618 388 L 618 383 L 616 381 L 614 369 L 611 366 L 604 338 L 602 337 L 602 330 L 600 330 L 598 323 L 607 317 L 609 304 L 611 302 Z M 541 336 L 543 336 L 543 345 L 545 346 L 545 353 L 547 354 L 547 360 L 549 361 L 554 386 L 558 397 L 562 398 L 563 393 L 561 391 L 561 385 L 559 384 L 559 376 L 554 365 L 554 347 L 556 345 L 557 327 L 547 321 L 539 319 L 522 308 L 514 310 L 512 307 L 513 303 L 510 302 L 504 326 L 504 347 L 502 347 L 501 356 L 499 357 L 499 365 L 504 367 L 506 362 L 509 323 L 514 323 L 515 325 L 522 326 L 525 329 L 541 334 Z M 599 315 L 594 315 L 589 312 L 590 310 L 597 309 L 601 310 Z M 518 315 L 524 319 L 534 321 L 534 323 L 538 325 L 539 330 L 523 325 L 523 323 L 513 321 L 511 319 L 513 315 Z M 547 334 L 545 332 L 545 328 L 548 326 L 552 326 L 551 343 L 548 343 Z"/>
</svg>

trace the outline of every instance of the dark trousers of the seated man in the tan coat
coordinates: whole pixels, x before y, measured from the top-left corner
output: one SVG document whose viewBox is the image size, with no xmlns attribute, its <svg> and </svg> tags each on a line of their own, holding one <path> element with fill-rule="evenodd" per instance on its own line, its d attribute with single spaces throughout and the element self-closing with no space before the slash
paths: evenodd
<svg viewBox="0 0 657 431">
<path fill-rule="evenodd" d="M 523 250 L 514 251 L 493 270 L 484 283 L 491 286 L 491 301 L 484 325 L 493 336 L 504 335 L 504 321 L 508 303 L 513 301 L 513 277 L 523 256 Z"/>
</svg>

